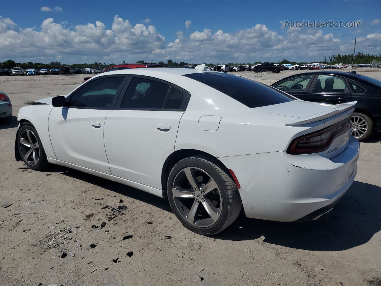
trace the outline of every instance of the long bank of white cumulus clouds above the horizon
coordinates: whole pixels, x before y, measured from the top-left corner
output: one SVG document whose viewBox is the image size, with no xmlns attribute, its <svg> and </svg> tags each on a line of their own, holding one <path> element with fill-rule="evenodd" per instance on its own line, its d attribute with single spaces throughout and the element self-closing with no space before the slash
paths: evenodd
<svg viewBox="0 0 381 286">
<path fill-rule="evenodd" d="M 286 58 L 290 61 L 322 59 L 336 53 L 351 53 L 352 40 L 315 29 L 285 29 L 276 32 L 266 25 L 234 32 L 206 28 L 189 36 L 176 32 L 177 39 L 165 43 L 165 37 L 154 25 L 132 24 L 115 15 L 111 27 L 95 21 L 70 26 L 52 18 L 40 27 L 22 29 L 10 18 L 0 16 L 0 61 L 83 63 L 101 61 L 186 61 L 189 63 L 256 62 Z M 190 26 L 189 26 L 190 27 Z M 279 29 L 280 30 L 280 29 Z M 281 33 L 281 34 L 280 34 Z M 368 34 L 357 39 L 358 50 L 378 53 L 381 34 Z M 33 47 L 33 48 L 31 48 Z"/>
</svg>

